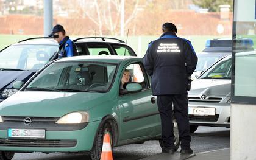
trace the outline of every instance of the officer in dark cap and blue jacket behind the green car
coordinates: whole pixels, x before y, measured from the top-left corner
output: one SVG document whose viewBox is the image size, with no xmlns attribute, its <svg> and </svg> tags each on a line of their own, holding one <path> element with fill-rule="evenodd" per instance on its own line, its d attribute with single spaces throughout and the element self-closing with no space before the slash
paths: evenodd
<svg viewBox="0 0 256 160">
<path fill-rule="evenodd" d="M 66 36 L 66 31 L 64 27 L 60 24 L 57 24 L 53 27 L 52 33 L 49 37 L 54 38 L 59 43 L 59 51 L 58 51 L 58 58 L 62 57 L 71 57 L 77 55 L 77 47 L 76 44 L 72 40 Z"/>
</svg>

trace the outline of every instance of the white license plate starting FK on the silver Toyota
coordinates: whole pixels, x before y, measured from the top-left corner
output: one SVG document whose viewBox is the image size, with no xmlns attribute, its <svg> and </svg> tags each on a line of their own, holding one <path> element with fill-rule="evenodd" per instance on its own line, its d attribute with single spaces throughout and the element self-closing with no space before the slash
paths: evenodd
<svg viewBox="0 0 256 160">
<path fill-rule="evenodd" d="M 188 114 L 198 116 L 215 116 L 215 108 L 189 107 Z"/>
</svg>

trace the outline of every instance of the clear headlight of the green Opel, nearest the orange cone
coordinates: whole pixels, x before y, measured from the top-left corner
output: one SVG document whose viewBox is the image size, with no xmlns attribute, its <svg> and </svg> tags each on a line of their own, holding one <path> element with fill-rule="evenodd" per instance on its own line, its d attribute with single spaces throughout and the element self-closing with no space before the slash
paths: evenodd
<svg viewBox="0 0 256 160">
<path fill-rule="evenodd" d="M 86 123 L 89 121 L 89 114 L 87 112 L 73 112 L 60 117 L 57 124 L 75 124 Z"/>
</svg>

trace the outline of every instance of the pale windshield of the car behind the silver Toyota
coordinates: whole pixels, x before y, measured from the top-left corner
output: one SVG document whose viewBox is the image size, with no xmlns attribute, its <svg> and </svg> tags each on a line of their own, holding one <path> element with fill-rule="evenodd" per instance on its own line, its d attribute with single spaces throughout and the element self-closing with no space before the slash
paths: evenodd
<svg viewBox="0 0 256 160">
<path fill-rule="evenodd" d="M 227 54 L 197 54 L 198 61 L 194 71 L 205 71 L 212 66 L 212 64 L 226 55 Z"/>
</svg>

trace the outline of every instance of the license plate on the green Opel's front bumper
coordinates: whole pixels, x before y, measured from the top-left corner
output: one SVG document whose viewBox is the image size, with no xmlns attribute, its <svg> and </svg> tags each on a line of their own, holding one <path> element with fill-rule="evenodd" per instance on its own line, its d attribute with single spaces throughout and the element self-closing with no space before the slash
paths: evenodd
<svg viewBox="0 0 256 160">
<path fill-rule="evenodd" d="M 45 130 L 8 129 L 8 137 L 45 138 Z"/>
</svg>

